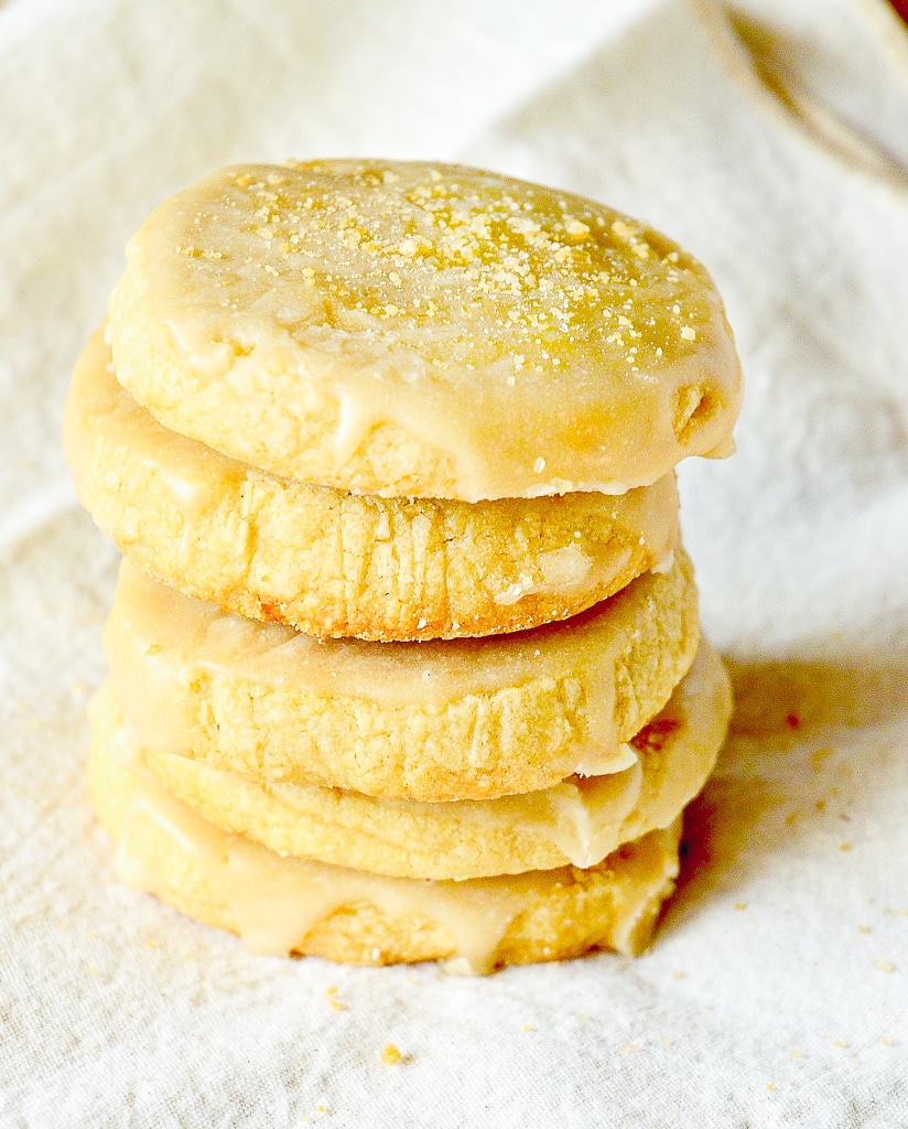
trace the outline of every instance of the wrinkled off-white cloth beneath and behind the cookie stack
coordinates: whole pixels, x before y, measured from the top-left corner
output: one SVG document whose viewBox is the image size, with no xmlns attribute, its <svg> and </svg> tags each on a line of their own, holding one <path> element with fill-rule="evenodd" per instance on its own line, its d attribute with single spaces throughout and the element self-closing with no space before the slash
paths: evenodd
<svg viewBox="0 0 908 1129">
<path fill-rule="evenodd" d="M 723 12 L 0 7 L 3 1126 L 908 1124 L 908 33 L 883 0 Z M 61 455 L 69 370 L 157 201 L 367 154 L 598 196 L 725 296 L 739 453 L 682 466 L 682 520 L 740 704 L 638 961 L 256 956 L 117 885 L 89 812 L 116 555 Z"/>
</svg>

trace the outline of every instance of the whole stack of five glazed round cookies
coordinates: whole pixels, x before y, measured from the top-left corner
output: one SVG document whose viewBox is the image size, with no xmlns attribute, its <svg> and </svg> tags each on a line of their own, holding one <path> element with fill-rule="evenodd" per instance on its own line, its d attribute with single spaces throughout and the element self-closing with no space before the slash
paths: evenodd
<svg viewBox="0 0 908 1129">
<path fill-rule="evenodd" d="M 589 200 L 326 161 L 158 208 L 64 419 L 125 554 L 121 877 L 273 953 L 637 952 L 730 711 L 673 466 L 739 400 L 703 268 Z"/>
</svg>

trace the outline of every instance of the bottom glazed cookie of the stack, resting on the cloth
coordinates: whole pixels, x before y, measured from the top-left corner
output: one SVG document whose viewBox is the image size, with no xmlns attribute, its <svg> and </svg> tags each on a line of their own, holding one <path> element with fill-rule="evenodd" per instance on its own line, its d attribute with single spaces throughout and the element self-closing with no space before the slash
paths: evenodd
<svg viewBox="0 0 908 1129">
<path fill-rule="evenodd" d="M 282 858 L 209 823 L 96 730 L 89 791 L 122 882 L 272 954 L 351 964 L 447 960 L 457 972 L 637 953 L 678 874 L 680 820 L 588 870 L 468 882 L 389 878 Z"/>
</svg>

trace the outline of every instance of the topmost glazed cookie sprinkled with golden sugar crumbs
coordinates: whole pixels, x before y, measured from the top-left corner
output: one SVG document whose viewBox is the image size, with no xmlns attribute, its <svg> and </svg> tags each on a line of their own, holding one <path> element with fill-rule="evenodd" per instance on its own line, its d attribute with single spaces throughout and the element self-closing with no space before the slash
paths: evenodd
<svg viewBox="0 0 908 1129">
<path fill-rule="evenodd" d="M 233 166 L 156 209 L 127 255 L 121 383 L 288 478 L 623 493 L 732 449 L 741 374 L 708 274 L 581 196 L 455 165 Z"/>
</svg>

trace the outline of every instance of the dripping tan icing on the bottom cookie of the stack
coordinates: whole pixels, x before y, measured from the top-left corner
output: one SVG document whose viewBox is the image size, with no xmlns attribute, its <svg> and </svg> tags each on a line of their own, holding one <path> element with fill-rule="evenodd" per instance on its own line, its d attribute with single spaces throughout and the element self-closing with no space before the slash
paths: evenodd
<svg viewBox="0 0 908 1129">
<path fill-rule="evenodd" d="M 213 826 L 152 776 L 112 754 L 104 735 L 96 734 L 89 772 L 98 812 L 117 839 L 120 879 L 238 933 L 258 953 L 305 952 L 309 934 L 335 911 L 371 905 L 390 922 L 440 928 L 449 939 L 440 938 L 439 955 L 453 961 L 451 971 L 486 973 L 520 916 L 575 881 L 573 872 L 558 869 L 426 882 L 282 858 Z M 597 945 L 637 952 L 645 943 L 646 921 L 677 873 L 677 841 L 678 828 L 654 832 L 594 879 L 611 895 Z M 367 942 L 372 963 L 382 963 L 380 943 L 376 938 L 373 948 Z"/>
</svg>

